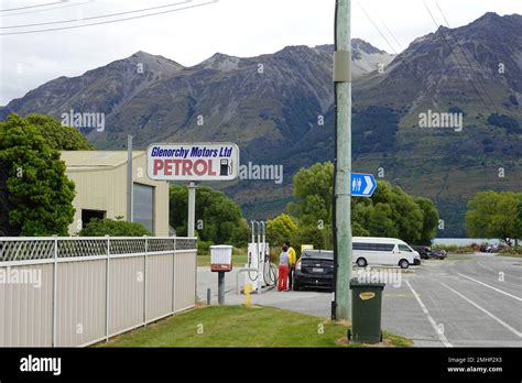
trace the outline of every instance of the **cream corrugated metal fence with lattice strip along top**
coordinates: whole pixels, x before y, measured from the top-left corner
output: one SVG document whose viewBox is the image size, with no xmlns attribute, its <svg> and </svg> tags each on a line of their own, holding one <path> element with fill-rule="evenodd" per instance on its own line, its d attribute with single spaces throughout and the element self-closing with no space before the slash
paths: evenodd
<svg viewBox="0 0 522 383">
<path fill-rule="evenodd" d="M 188 250 L 161 251 L 176 249 L 176 239 L 155 238 L 154 253 L 93 256 L 90 247 L 88 256 L 76 249 L 75 258 L 35 251 L 39 239 L 11 240 L 0 239 L 0 347 L 87 346 L 195 306 L 195 240 Z M 48 248 L 48 239 L 40 241 Z M 74 240 L 65 241 L 70 252 Z M 186 249 L 186 239 L 180 241 Z M 14 283 L 23 273 L 39 277 Z"/>
</svg>

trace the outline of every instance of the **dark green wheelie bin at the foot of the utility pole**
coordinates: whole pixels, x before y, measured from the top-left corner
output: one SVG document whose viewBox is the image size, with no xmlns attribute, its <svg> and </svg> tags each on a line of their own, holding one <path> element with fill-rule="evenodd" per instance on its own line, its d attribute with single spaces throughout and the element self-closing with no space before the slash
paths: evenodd
<svg viewBox="0 0 522 383">
<path fill-rule="evenodd" d="M 357 343 L 379 343 L 382 341 L 381 305 L 384 283 L 361 283 L 350 281 L 351 331 L 348 340 Z"/>
</svg>

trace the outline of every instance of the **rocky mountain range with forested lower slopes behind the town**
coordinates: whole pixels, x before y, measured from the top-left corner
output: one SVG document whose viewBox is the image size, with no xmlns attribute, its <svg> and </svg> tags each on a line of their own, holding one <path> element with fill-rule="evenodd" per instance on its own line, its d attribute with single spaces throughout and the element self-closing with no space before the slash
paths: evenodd
<svg viewBox="0 0 522 383">
<path fill-rule="evenodd" d="M 0 118 L 105 113 L 104 131 L 81 127 L 99 149 L 123 149 L 127 134 L 141 147 L 236 142 L 243 164 L 284 166 L 281 185 L 215 185 L 249 218 L 262 219 L 292 199 L 298 168 L 334 158 L 333 52 L 217 53 L 192 67 L 138 52 L 51 80 L 0 108 Z M 441 26 L 399 55 L 355 39 L 352 74 L 354 169 L 433 198 L 445 221 L 441 237 L 465 234 L 466 203 L 476 192 L 522 189 L 522 15 L 486 13 L 465 26 Z M 420 125 L 421 116 L 437 113 L 460 114 L 461 129 Z"/>
</svg>

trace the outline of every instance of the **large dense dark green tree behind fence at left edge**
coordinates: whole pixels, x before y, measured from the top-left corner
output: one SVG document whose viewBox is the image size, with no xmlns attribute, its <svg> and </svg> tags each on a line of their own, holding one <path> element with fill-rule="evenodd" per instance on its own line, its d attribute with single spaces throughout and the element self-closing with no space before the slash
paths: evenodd
<svg viewBox="0 0 522 383">
<path fill-rule="evenodd" d="M 46 142 L 42 129 L 17 114 L 0 122 L 0 231 L 4 233 L 67 236 L 73 222 L 74 183 L 65 175 L 58 147 Z"/>
</svg>

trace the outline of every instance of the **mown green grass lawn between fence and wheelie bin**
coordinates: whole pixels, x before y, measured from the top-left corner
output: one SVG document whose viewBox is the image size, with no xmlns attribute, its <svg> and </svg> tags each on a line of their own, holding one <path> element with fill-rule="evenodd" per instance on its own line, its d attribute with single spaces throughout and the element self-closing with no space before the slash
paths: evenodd
<svg viewBox="0 0 522 383">
<path fill-rule="evenodd" d="M 361 347 L 346 344 L 348 326 L 289 310 L 252 306 L 203 306 L 97 347 Z M 385 347 L 411 347 L 384 332 Z"/>
</svg>

